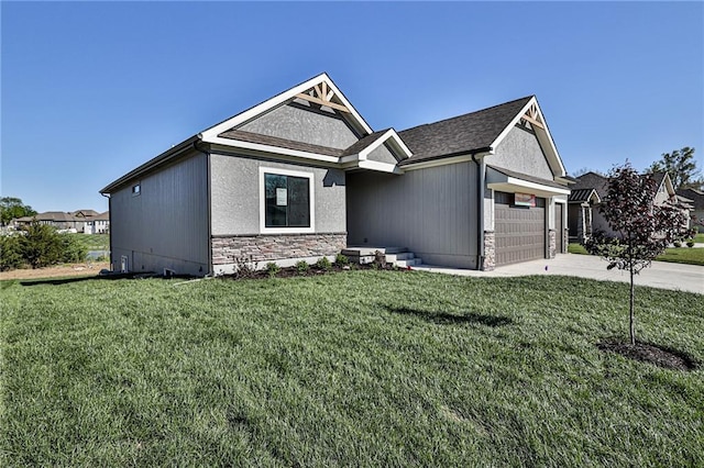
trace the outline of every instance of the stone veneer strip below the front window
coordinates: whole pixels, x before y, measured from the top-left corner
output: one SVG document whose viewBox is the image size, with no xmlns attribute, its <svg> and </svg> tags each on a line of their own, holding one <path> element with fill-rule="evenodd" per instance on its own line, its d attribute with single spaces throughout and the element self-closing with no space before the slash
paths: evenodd
<svg viewBox="0 0 704 468">
<path fill-rule="evenodd" d="M 260 264 L 334 256 L 346 247 L 346 233 L 213 236 L 212 266 Z"/>
</svg>

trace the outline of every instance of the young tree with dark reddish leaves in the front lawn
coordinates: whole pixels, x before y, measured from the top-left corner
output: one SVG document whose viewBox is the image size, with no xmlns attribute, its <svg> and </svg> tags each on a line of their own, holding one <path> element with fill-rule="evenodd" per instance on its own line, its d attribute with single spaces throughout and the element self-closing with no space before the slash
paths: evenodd
<svg viewBox="0 0 704 468">
<path fill-rule="evenodd" d="M 635 345 L 634 276 L 649 267 L 668 245 L 692 236 L 693 232 L 686 227 L 682 207 L 673 202 L 653 204 L 658 189 L 654 179 L 638 175 L 628 161 L 612 169 L 607 187 L 600 212 L 616 235 L 596 232 L 586 242 L 586 249 L 606 259 L 607 269 L 628 270 L 630 344 Z"/>
</svg>

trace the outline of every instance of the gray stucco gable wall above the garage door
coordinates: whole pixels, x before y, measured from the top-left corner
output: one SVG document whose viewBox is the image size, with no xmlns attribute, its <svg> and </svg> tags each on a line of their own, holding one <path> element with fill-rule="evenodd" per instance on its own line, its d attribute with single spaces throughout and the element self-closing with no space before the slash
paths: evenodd
<svg viewBox="0 0 704 468">
<path fill-rule="evenodd" d="M 486 157 L 486 164 L 553 180 L 552 170 L 536 135 L 517 126 L 498 144 L 495 154 Z"/>
</svg>

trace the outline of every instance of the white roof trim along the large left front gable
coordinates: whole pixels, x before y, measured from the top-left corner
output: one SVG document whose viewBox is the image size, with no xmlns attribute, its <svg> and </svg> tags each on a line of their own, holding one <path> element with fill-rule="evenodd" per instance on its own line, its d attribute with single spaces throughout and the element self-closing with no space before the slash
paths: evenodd
<svg viewBox="0 0 704 468">
<path fill-rule="evenodd" d="M 352 104 L 350 103 L 350 101 L 348 101 L 348 99 L 344 97 L 344 94 L 342 94 L 342 92 L 340 92 L 340 90 L 338 89 L 337 86 L 334 86 L 334 83 L 332 82 L 332 80 L 330 79 L 330 77 L 328 76 L 328 74 L 320 74 L 315 78 L 309 79 L 308 81 L 301 82 L 300 85 L 290 88 L 287 91 L 282 92 L 280 94 L 277 94 L 264 102 L 262 102 L 258 105 L 255 105 L 242 113 L 239 113 L 223 122 L 220 122 L 217 125 L 211 126 L 210 129 L 201 132 L 204 140 L 209 140 L 211 137 L 218 136 L 219 134 L 221 134 L 222 132 L 226 132 L 234 126 L 238 126 L 244 122 L 248 122 L 254 118 L 256 118 L 257 115 L 261 115 L 272 109 L 274 109 L 275 107 L 283 104 L 284 102 L 288 101 L 289 99 L 294 99 L 296 97 L 296 94 L 301 93 L 301 92 L 306 92 L 308 91 L 310 88 L 315 87 L 316 85 L 320 85 L 321 82 L 326 82 L 328 85 L 328 88 L 330 88 L 331 90 L 334 91 L 334 94 L 340 99 L 340 101 L 343 102 L 344 107 L 348 108 L 350 110 L 350 114 L 354 118 L 354 120 L 356 121 L 356 124 L 360 126 L 361 130 L 363 130 L 364 132 L 366 132 L 366 134 L 373 133 L 372 127 L 369 126 L 369 124 L 364 121 L 364 119 L 362 119 L 362 115 L 360 115 L 360 113 L 352 107 Z"/>
</svg>

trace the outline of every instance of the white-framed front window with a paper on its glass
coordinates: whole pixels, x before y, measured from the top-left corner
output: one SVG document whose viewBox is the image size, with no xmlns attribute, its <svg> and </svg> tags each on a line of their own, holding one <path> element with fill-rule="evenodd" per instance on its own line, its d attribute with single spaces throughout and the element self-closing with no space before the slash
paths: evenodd
<svg viewBox="0 0 704 468">
<path fill-rule="evenodd" d="M 260 168 L 262 232 L 314 232 L 314 175 Z"/>
</svg>

